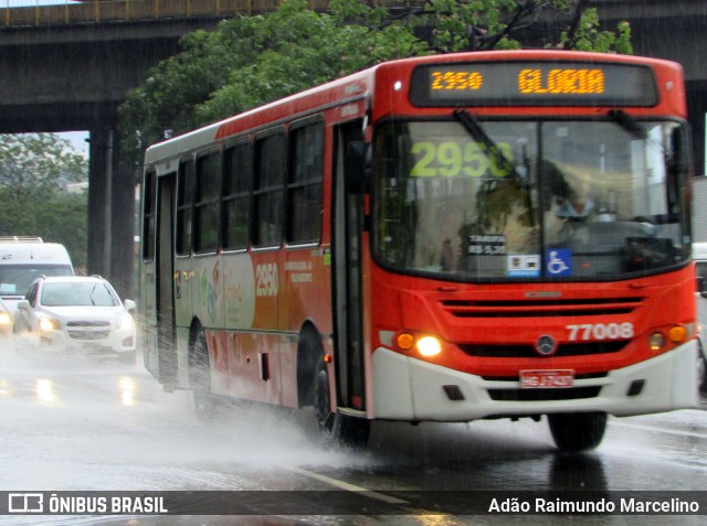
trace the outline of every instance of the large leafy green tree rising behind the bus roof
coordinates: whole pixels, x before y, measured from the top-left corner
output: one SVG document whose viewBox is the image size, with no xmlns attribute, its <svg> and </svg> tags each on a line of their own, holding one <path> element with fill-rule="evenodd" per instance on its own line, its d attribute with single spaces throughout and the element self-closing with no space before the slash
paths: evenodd
<svg viewBox="0 0 707 526">
<path fill-rule="evenodd" d="M 629 24 L 600 30 L 587 0 L 378 3 L 392 7 L 331 0 L 315 12 L 307 0 L 285 0 L 272 13 L 186 35 L 183 52 L 152 68 L 120 107 L 123 151 L 139 163 L 166 137 L 391 58 L 524 45 L 632 52 Z"/>
</svg>

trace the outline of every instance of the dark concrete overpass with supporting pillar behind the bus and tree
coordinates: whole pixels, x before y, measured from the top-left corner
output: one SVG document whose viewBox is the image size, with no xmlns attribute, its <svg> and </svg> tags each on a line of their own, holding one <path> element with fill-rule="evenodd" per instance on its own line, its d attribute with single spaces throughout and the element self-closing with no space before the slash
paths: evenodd
<svg viewBox="0 0 707 526">
<path fill-rule="evenodd" d="M 421 2 L 378 0 L 408 6 Z M 91 132 L 88 271 L 134 294 L 134 169 L 119 163 L 116 110 L 179 39 L 279 0 L 86 0 L 0 9 L 0 133 Z M 312 0 L 324 9 L 328 2 Z M 705 0 L 587 0 L 614 28 L 631 22 L 636 54 L 680 62 L 686 72 L 697 173 L 704 173 L 707 112 Z M 546 28 L 552 31 L 551 28 Z"/>
</svg>

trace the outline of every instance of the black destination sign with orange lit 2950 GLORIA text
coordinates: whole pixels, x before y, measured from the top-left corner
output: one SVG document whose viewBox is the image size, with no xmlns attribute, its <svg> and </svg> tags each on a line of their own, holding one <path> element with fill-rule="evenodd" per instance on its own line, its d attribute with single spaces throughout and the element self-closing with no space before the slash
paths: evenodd
<svg viewBox="0 0 707 526">
<path fill-rule="evenodd" d="M 434 64 L 413 72 L 418 106 L 642 106 L 657 104 L 652 71 L 634 64 Z"/>
</svg>

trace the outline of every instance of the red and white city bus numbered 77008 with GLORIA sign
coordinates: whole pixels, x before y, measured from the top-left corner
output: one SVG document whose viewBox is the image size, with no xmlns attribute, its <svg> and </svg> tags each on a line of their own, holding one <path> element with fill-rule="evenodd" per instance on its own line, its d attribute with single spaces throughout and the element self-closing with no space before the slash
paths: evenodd
<svg viewBox="0 0 707 526">
<path fill-rule="evenodd" d="M 561 51 L 400 60 L 152 146 L 145 365 L 233 397 L 373 419 L 697 402 L 680 67 Z"/>
</svg>

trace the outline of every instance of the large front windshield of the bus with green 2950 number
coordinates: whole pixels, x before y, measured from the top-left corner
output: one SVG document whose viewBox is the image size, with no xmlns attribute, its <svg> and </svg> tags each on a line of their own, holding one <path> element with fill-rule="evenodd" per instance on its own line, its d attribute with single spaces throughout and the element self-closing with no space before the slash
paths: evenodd
<svg viewBox="0 0 707 526">
<path fill-rule="evenodd" d="M 627 117 L 382 124 L 376 258 L 460 281 L 606 280 L 682 264 L 683 131 Z"/>
</svg>

